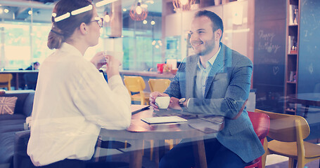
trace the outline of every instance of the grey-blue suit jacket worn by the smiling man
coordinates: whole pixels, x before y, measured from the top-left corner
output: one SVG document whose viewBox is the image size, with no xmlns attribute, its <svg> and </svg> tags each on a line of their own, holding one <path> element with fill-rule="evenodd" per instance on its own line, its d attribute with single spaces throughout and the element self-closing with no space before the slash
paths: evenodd
<svg viewBox="0 0 320 168">
<path fill-rule="evenodd" d="M 189 112 L 224 116 L 224 130 L 217 134 L 217 140 L 243 161 L 250 162 L 264 153 L 262 144 L 253 130 L 247 111 L 244 110 L 236 120 L 232 118 L 249 97 L 252 62 L 248 57 L 220 44 L 221 50 L 207 77 L 205 99 L 194 98 L 198 55 L 186 57 L 181 62 L 165 93 L 178 99 L 190 98 Z"/>
</svg>

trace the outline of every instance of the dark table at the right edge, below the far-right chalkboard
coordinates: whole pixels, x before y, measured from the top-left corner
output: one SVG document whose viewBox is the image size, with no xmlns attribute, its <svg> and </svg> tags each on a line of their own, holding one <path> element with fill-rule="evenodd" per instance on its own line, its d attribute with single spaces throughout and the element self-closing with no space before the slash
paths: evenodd
<svg viewBox="0 0 320 168">
<path fill-rule="evenodd" d="M 309 106 L 320 106 L 320 93 L 299 93 L 297 97 L 290 97 L 289 102 L 305 105 L 304 118 L 307 118 Z"/>
</svg>

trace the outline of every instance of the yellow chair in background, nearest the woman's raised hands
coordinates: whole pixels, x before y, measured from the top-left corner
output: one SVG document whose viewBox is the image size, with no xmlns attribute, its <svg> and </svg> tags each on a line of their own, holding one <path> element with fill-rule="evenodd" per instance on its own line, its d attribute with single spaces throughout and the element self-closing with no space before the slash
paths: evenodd
<svg viewBox="0 0 320 168">
<path fill-rule="evenodd" d="M 146 83 L 141 76 L 124 76 L 124 85 L 129 91 L 132 101 L 140 101 L 141 105 L 149 104 L 150 92 L 143 92 Z M 139 92 L 132 94 L 132 92 Z"/>
</svg>

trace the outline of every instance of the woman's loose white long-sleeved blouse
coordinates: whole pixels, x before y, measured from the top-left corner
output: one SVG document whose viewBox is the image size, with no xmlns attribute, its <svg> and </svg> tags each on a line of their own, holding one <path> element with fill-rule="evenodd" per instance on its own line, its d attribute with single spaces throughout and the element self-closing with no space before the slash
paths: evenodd
<svg viewBox="0 0 320 168">
<path fill-rule="evenodd" d="M 119 75 L 107 83 L 77 48 L 63 43 L 39 70 L 27 154 L 36 166 L 89 160 L 101 127 L 129 127 L 130 103 Z"/>
</svg>

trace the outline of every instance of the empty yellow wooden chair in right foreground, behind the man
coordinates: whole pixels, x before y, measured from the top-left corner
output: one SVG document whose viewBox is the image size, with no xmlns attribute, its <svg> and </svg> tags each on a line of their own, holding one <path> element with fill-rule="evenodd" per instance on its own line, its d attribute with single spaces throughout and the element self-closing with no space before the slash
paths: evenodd
<svg viewBox="0 0 320 168">
<path fill-rule="evenodd" d="M 310 134 L 309 124 L 305 118 L 282 113 L 271 113 L 255 109 L 257 113 L 265 113 L 270 117 L 269 141 L 266 154 L 283 155 L 289 158 L 289 168 L 294 167 L 297 160 L 297 168 L 305 167 L 305 164 L 320 159 L 320 146 L 303 141 Z M 320 164 L 319 164 L 320 167 Z"/>
</svg>

